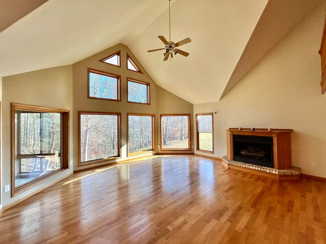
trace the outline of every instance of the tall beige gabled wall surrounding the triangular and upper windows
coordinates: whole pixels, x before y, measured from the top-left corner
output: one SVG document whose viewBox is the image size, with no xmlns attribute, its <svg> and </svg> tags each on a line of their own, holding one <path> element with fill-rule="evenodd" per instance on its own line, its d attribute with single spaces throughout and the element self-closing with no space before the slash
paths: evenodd
<svg viewBox="0 0 326 244">
<path fill-rule="evenodd" d="M 121 50 L 121 68 L 99 62 L 99 60 L 110 56 L 119 50 Z M 143 74 L 127 70 L 126 53 L 129 54 L 133 62 L 135 62 L 135 64 L 141 69 Z M 121 102 L 87 98 L 88 68 L 121 76 Z M 150 105 L 127 103 L 127 78 L 133 78 L 150 83 Z M 73 141 L 75 142 L 78 141 L 78 111 L 121 112 L 122 151 L 121 159 L 116 161 L 127 159 L 127 113 L 155 114 L 156 151 L 153 152 L 155 154 L 160 152 L 157 148 L 158 143 L 160 143 L 159 113 L 163 111 L 164 113 L 192 113 L 193 111 L 193 105 L 191 103 L 185 102 L 184 100 L 170 94 L 165 89 L 158 87 L 129 48 L 123 44 L 117 44 L 73 64 L 73 108 Z M 78 167 L 77 143 L 74 144 L 73 158 L 74 170 L 115 162 L 107 161 Z"/>
</svg>

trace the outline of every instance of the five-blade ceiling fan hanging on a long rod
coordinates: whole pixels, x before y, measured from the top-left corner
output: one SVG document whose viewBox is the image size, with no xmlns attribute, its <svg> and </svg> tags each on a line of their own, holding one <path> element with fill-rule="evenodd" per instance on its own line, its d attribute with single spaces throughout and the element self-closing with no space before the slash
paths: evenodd
<svg viewBox="0 0 326 244">
<path fill-rule="evenodd" d="M 167 39 L 165 39 L 164 36 L 158 36 L 158 38 L 165 44 L 164 48 L 158 48 L 158 49 L 153 49 L 153 50 L 148 50 L 148 52 L 154 52 L 154 51 L 160 51 L 160 50 L 165 50 L 165 52 L 163 53 L 164 55 L 164 61 L 168 60 L 169 57 L 171 56 L 171 58 L 173 57 L 173 54 L 176 55 L 177 53 L 183 55 L 183 56 L 188 56 L 189 53 L 182 51 L 180 49 L 178 49 L 177 47 L 187 44 L 189 42 L 191 42 L 192 40 L 190 38 L 186 38 L 183 39 L 182 41 L 179 41 L 177 43 L 171 42 L 171 14 L 170 14 L 170 1 L 169 1 L 169 41 L 167 41 Z"/>
</svg>

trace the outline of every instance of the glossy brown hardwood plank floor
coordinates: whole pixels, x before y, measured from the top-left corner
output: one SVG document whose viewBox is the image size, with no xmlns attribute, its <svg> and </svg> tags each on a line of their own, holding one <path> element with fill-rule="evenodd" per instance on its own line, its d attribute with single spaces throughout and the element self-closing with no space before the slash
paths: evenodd
<svg viewBox="0 0 326 244">
<path fill-rule="evenodd" d="M 0 243 L 325 243 L 326 185 L 193 156 L 75 173 L 4 211 Z"/>
</svg>

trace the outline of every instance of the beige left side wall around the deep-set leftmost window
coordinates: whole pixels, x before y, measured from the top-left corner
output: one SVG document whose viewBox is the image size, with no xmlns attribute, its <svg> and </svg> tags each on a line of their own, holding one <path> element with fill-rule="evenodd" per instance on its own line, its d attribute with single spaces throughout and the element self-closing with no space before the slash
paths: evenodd
<svg viewBox="0 0 326 244">
<path fill-rule="evenodd" d="M 2 82 L 2 179 L 3 186 L 11 185 L 11 155 L 10 155 L 10 104 L 23 103 L 52 108 L 70 110 L 70 128 L 72 128 L 72 67 L 62 66 L 44 69 L 13 76 L 3 77 Z M 70 155 L 72 155 L 72 130 L 70 129 Z M 3 206 L 18 201 L 39 189 L 55 182 L 63 175 L 52 177 L 42 184 L 33 187 L 17 196 L 11 198 L 10 192 L 2 194 Z"/>
</svg>

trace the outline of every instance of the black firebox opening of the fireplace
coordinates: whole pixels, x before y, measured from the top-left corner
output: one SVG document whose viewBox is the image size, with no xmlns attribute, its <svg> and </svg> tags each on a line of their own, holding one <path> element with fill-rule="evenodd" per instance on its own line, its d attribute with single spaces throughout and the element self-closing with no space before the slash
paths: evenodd
<svg viewBox="0 0 326 244">
<path fill-rule="evenodd" d="M 273 137 L 233 135 L 233 160 L 274 168 Z"/>
</svg>

